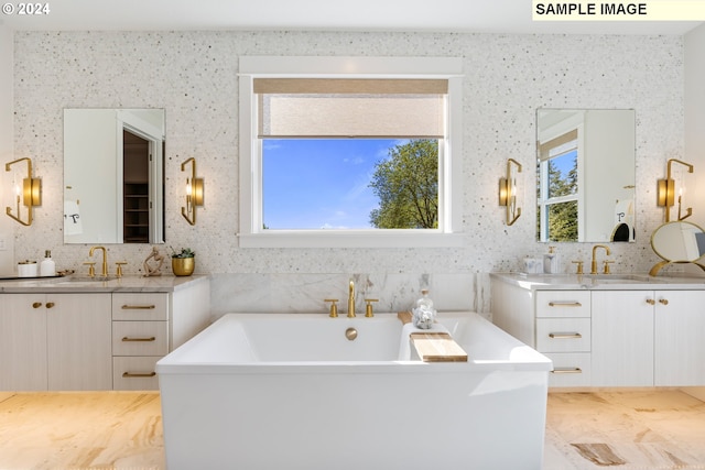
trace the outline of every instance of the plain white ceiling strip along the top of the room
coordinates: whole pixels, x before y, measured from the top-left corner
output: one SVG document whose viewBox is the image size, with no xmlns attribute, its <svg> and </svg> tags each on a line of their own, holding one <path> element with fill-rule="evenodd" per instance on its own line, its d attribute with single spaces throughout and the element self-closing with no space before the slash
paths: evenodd
<svg viewBox="0 0 705 470">
<path fill-rule="evenodd" d="M 702 22 L 532 21 L 532 0 L 44 0 L 2 14 L 22 31 L 315 30 L 508 34 L 676 34 Z M 18 6 L 12 1 L 10 4 Z"/>
</svg>

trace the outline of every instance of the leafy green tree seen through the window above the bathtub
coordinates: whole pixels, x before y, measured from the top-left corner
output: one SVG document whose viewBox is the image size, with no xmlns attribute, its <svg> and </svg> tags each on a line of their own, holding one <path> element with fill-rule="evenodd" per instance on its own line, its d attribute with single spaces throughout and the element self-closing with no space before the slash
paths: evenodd
<svg viewBox="0 0 705 470">
<path fill-rule="evenodd" d="M 438 227 L 438 141 L 412 140 L 377 162 L 369 185 L 379 197 L 370 223 L 379 229 Z"/>
</svg>

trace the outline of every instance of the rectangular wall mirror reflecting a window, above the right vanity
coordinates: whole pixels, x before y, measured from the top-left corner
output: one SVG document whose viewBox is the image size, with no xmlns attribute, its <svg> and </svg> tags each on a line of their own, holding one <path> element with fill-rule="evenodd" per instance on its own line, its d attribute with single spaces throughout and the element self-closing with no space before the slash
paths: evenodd
<svg viewBox="0 0 705 470">
<path fill-rule="evenodd" d="M 634 241 L 632 109 L 536 111 L 539 241 Z"/>
</svg>

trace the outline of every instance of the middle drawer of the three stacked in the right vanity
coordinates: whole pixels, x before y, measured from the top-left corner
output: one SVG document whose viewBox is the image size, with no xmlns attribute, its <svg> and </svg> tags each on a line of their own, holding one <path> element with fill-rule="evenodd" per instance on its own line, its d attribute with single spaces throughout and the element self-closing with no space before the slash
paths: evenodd
<svg viewBox="0 0 705 470">
<path fill-rule="evenodd" d="M 536 349 L 540 352 L 589 352 L 589 318 L 538 318 Z"/>
</svg>

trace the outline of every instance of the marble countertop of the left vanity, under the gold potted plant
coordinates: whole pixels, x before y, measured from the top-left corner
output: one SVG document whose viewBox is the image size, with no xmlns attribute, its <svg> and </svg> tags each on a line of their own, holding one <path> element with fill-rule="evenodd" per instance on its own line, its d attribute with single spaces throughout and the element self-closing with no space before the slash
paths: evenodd
<svg viewBox="0 0 705 470">
<path fill-rule="evenodd" d="M 174 292 L 196 282 L 208 280 L 207 275 L 191 276 L 122 276 L 79 277 L 32 277 L 0 281 L 0 293 L 97 293 L 97 292 Z"/>
</svg>

